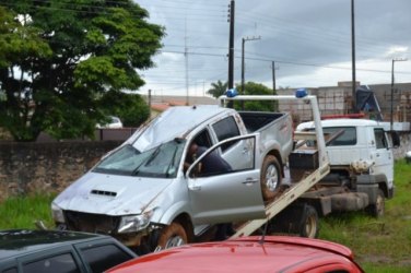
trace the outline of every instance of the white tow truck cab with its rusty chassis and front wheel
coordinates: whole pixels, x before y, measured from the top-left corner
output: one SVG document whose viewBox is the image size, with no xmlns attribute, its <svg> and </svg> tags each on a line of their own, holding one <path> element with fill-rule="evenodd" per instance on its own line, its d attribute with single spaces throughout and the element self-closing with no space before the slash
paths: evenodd
<svg viewBox="0 0 411 273">
<path fill-rule="evenodd" d="M 381 122 L 365 119 L 329 119 L 321 121 L 326 135 L 326 151 L 330 174 L 317 189 L 303 194 L 303 199 L 317 203 L 322 215 L 334 211 L 366 209 L 378 217 L 384 214 L 385 199 L 394 197 L 394 155 L 391 139 Z M 297 127 L 310 131 L 313 122 Z M 330 138 L 330 139 L 329 139 Z M 312 142 L 304 143 L 307 151 Z M 298 157 L 292 153 L 291 158 Z M 307 161 L 301 161 L 307 163 Z M 290 161 L 290 171 L 297 173 L 295 161 Z M 315 202 L 317 201 L 317 202 Z"/>
</svg>

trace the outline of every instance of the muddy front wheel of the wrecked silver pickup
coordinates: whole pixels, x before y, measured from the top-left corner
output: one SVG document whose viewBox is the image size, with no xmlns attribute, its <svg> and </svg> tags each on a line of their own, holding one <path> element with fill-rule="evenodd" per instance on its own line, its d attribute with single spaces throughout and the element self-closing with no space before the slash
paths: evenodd
<svg viewBox="0 0 411 273">
<path fill-rule="evenodd" d="M 187 242 L 187 233 L 184 227 L 179 223 L 173 222 L 161 232 L 157 250 L 179 247 Z"/>
</svg>

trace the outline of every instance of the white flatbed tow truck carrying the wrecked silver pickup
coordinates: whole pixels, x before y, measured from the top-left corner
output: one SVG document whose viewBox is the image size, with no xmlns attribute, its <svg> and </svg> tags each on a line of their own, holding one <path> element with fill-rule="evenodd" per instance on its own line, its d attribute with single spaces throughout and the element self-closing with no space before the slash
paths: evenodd
<svg viewBox="0 0 411 273">
<path fill-rule="evenodd" d="M 270 99 L 270 96 L 221 99 Z M 266 218 L 243 224 L 233 238 L 255 234 L 262 226 L 265 233 L 315 238 L 319 232 L 318 215 L 364 210 L 380 217 L 385 199 L 394 197 L 391 150 L 400 145 L 395 132 L 374 120 L 321 121 L 316 97 L 303 99 L 312 105 L 314 121 L 300 124 L 294 132 L 295 149 L 289 156 L 287 181 L 283 181 L 287 188 L 267 204 Z"/>
</svg>

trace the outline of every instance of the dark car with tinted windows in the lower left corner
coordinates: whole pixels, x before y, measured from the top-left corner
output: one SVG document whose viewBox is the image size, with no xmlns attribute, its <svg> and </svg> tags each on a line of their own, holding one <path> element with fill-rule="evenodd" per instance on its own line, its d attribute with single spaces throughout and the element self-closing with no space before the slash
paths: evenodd
<svg viewBox="0 0 411 273">
<path fill-rule="evenodd" d="M 0 230 L 1 273 L 103 272 L 137 256 L 113 237 L 62 230 Z"/>
</svg>

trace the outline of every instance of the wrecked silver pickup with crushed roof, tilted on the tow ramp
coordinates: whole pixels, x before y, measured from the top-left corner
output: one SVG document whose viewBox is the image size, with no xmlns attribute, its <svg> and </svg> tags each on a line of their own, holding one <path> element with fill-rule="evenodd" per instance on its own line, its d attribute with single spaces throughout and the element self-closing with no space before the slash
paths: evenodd
<svg viewBox="0 0 411 273">
<path fill-rule="evenodd" d="M 104 156 L 51 204 L 59 228 L 108 234 L 139 253 L 197 241 L 219 223 L 265 217 L 292 151 L 285 112 L 172 107 Z M 204 146 L 188 169 L 191 143 Z M 218 153 L 228 173 L 201 173 Z"/>
</svg>

